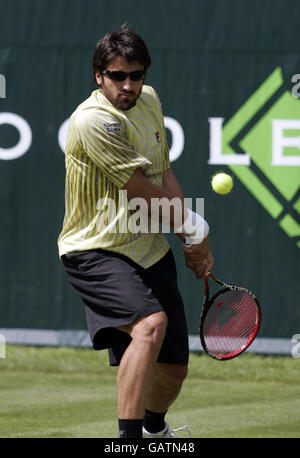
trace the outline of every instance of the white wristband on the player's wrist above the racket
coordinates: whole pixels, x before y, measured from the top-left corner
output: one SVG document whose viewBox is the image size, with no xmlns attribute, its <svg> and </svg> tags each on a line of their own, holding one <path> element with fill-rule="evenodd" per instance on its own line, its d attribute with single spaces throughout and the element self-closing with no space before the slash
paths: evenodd
<svg viewBox="0 0 300 458">
<path fill-rule="evenodd" d="M 188 217 L 183 225 L 176 229 L 176 232 L 183 232 L 187 237 L 185 243 L 194 245 L 201 243 L 209 234 L 209 225 L 202 216 L 187 208 Z"/>
</svg>

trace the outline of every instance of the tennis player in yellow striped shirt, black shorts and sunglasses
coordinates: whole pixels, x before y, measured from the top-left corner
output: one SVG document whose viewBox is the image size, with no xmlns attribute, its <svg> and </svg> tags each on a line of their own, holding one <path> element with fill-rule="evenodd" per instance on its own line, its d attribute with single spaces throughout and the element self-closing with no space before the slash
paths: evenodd
<svg viewBox="0 0 300 458">
<path fill-rule="evenodd" d="M 135 199 L 145 203 L 150 220 L 153 199 L 184 202 L 170 167 L 160 101 L 144 84 L 150 63 L 144 41 L 127 26 L 98 42 L 98 89 L 70 118 L 58 239 L 66 275 L 85 304 L 93 348 L 108 349 L 110 365 L 118 366 L 118 426 L 125 438 L 175 437 L 165 416 L 189 356 L 167 240 L 162 230 L 125 224 Z M 155 216 L 164 223 L 161 210 Z M 208 224 L 184 206 L 170 206 L 168 216 L 179 243 L 190 237 L 192 245 L 183 246 L 186 265 L 198 278 L 206 275 L 213 265 Z"/>
</svg>

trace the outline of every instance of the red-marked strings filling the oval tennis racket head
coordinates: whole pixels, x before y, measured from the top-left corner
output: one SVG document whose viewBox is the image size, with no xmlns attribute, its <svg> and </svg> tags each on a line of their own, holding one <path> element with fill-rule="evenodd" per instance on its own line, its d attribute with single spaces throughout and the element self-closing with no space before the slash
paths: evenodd
<svg viewBox="0 0 300 458">
<path fill-rule="evenodd" d="M 226 291 L 211 303 L 203 325 L 207 350 L 232 357 L 245 348 L 257 329 L 256 301 L 243 291 Z"/>
</svg>

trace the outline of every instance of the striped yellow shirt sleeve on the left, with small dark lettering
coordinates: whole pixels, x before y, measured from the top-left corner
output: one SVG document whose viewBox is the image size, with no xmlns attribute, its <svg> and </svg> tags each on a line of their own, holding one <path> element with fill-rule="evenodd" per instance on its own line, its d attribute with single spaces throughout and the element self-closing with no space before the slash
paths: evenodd
<svg viewBox="0 0 300 458">
<path fill-rule="evenodd" d="M 122 188 L 137 167 L 151 164 L 135 151 L 124 122 L 111 114 L 81 114 L 76 120 L 78 139 L 93 163 L 118 188 Z"/>
</svg>

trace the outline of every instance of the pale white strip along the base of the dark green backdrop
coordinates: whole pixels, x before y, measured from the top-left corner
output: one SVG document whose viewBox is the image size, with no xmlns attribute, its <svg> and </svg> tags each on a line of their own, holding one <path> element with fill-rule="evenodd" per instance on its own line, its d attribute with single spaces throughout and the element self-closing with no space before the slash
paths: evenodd
<svg viewBox="0 0 300 458">
<path fill-rule="evenodd" d="M 49 330 L 49 329 L 0 329 L 6 343 L 35 346 L 91 347 L 88 331 L 85 330 Z M 202 352 L 197 335 L 189 336 L 189 347 L 192 352 Z M 246 350 L 258 354 L 291 355 L 291 339 L 258 337 Z"/>
</svg>

